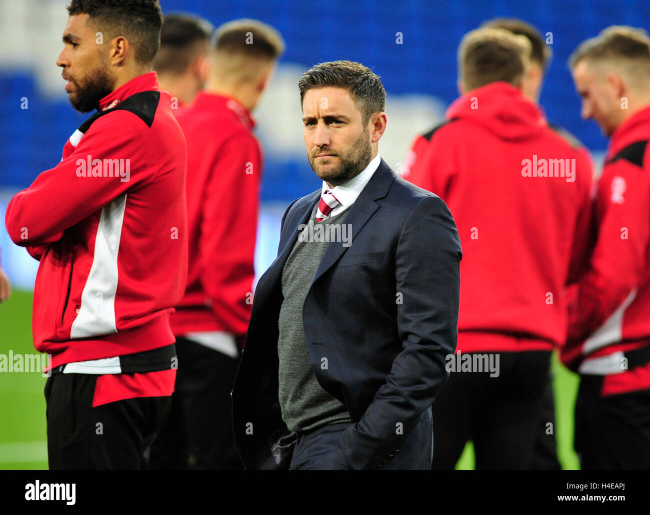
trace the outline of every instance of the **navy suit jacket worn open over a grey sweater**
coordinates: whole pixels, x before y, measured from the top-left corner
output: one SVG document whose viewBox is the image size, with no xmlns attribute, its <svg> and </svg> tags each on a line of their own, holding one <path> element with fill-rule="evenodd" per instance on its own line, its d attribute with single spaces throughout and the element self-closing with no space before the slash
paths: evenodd
<svg viewBox="0 0 650 515">
<path fill-rule="evenodd" d="M 278 258 L 255 289 L 231 393 L 235 443 L 247 469 L 287 468 L 291 459 L 294 434 L 278 401 L 281 278 L 319 199 L 320 189 L 289 205 Z M 419 421 L 430 424 L 422 413 L 447 381 L 445 357 L 458 337 L 461 246 L 443 200 L 396 177 L 383 159 L 341 223 L 350 224 L 352 244 L 328 245 L 303 326 L 320 386 L 352 417 L 339 442 L 346 460 L 350 468 L 374 469 Z"/>
</svg>

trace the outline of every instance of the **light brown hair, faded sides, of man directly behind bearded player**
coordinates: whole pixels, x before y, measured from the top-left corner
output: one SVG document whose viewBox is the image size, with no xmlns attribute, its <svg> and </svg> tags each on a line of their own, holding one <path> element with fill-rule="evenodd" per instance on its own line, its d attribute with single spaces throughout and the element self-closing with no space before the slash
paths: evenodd
<svg viewBox="0 0 650 515">
<path fill-rule="evenodd" d="M 216 29 L 213 47 L 217 52 L 244 53 L 250 57 L 273 60 L 285 51 L 281 34 L 259 20 L 242 18 Z"/>
</svg>

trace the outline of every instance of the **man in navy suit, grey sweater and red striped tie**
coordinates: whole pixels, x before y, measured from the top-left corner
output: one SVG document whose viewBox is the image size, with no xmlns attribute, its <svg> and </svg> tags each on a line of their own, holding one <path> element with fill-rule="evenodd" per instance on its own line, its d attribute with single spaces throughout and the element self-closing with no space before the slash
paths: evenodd
<svg viewBox="0 0 650 515">
<path fill-rule="evenodd" d="M 260 278 L 235 379 L 247 469 L 429 469 L 431 404 L 456 349 L 461 246 L 447 205 L 378 155 L 377 75 L 350 61 L 300 81 L 309 165 Z"/>
</svg>

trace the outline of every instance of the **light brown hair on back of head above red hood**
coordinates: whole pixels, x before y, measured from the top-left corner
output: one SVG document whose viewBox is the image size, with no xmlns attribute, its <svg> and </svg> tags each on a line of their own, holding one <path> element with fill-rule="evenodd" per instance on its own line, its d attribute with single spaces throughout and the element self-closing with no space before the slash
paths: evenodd
<svg viewBox="0 0 650 515">
<path fill-rule="evenodd" d="M 476 29 L 458 47 L 458 68 L 465 90 L 505 81 L 517 86 L 530 60 L 530 42 L 505 29 Z"/>
</svg>

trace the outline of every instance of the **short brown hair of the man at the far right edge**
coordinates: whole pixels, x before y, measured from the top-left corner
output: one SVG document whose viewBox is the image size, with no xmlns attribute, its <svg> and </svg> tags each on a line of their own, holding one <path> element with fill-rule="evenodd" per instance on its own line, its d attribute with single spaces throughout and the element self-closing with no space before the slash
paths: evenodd
<svg viewBox="0 0 650 515">
<path fill-rule="evenodd" d="M 569 57 L 571 69 L 573 70 L 581 60 L 616 62 L 632 60 L 636 62 L 637 71 L 647 72 L 650 68 L 650 38 L 643 29 L 634 29 L 627 25 L 612 25 L 601 31 L 597 37 L 588 39 L 578 46 Z M 642 66 L 639 66 L 639 61 L 643 62 Z"/>
</svg>

